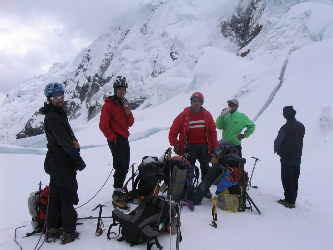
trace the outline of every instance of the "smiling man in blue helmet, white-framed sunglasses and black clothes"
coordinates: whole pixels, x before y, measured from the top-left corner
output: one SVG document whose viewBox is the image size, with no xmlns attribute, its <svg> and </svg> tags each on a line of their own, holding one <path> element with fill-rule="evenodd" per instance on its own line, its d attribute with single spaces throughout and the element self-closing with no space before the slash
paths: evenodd
<svg viewBox="0 0 333 250">
<path fill-rule="evenodd" d="M 44 94 L 49 104 L 44 103 L 40 112 L 45 114 L 44 126 L 48 141 L 44 169 L 50 175 L 51 198 L 47 214 L 47 237 L 60 238 L 61 244 L 74 241 L 77 213 L 74 205 L 79 202 L 76 171 L 86 167 L 80 156 L 80 145 L 68 123 L 63 110 L 64 90 L 62 85 L 49 83 Z M 63 230 L 57 228 L 58 214 L 61 209 Z"/>
</svg>

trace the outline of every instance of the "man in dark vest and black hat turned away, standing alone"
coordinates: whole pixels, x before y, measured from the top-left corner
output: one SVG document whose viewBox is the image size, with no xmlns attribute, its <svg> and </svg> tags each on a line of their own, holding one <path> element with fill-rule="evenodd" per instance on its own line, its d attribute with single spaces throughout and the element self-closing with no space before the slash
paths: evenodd
<svg viewBox="0 0 333 250">
<path fill-rule="evenodd" d="M 287 122 L 280 128 L 274 141 L 274 153 L 281 157 L 281 181 L 285 197 L 277 202 L 288 208 L 295 207 L 305 133 L 304 125 L 296 121 L 295 115 L 293 106 L 283 108 L 283 117 Z"/>
</svg>

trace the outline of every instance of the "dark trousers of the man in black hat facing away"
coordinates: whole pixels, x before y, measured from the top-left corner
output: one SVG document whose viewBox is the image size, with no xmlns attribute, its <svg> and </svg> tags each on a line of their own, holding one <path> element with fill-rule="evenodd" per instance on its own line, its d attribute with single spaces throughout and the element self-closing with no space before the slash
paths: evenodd
<svg viewBox="0 0 333 250">
<path fill-rule="evenodd" d="M 284 197 L 289 204 L 295 204 L 298 190 L 298 177 L 301 171 L 301 157 L 281 157 L 280 162 Z"/>
</svg>

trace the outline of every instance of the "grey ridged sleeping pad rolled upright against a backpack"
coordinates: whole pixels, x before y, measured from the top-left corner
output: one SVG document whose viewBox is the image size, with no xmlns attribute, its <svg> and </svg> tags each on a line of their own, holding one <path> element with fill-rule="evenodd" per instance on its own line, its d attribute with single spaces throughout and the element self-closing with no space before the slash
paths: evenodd
<svg viewBox="0 0 333 250">
<path fill-rule="evenodd" d="M 171 190 L 169 190 L 169 192 L 171 193 L 171 200 L 180 200 L 183 198 L 186 175 L 186 166 L 174 166 L 171 176 Z M 167 197 L 169 197 L 169 192 Z"/>
</svg>

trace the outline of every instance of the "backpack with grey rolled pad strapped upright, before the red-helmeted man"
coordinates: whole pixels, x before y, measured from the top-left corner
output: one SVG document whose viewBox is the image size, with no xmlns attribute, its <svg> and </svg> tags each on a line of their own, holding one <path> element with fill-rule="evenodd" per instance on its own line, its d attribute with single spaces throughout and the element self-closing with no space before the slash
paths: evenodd
<svg viewBox="0 0 333 250">
<path fill-rule="evenodd" d="M 171 158 L 171 199 L 180 200 L 187 199 L 188 195 L 193 191 L 199 182 L 199 168 L 191 165 L 188 160 L 183 160 L 182 157 L 173 156 Z M 166 163 L 167 177 L 165 177 L 165 184 L 169 184 L 169 164 Z M 165 172 L 165 175 L 166 175 Z M 196 184 L 196 185 L 195 185 Z M 167 188 L 167 197 L 170 195 L 170 186 Z"/>
</svg>

